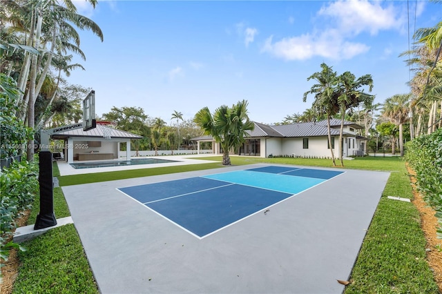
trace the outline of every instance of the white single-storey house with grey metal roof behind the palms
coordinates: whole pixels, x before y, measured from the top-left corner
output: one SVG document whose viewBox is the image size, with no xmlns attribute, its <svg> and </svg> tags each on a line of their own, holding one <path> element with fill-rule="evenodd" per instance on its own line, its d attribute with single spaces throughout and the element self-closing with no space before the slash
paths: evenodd
<svg viewBox="0 0 442 294">
<path fill-rule="evenodd" d="M 332 148 L 335 156 L 339 154 L 340 122 L 340 119 L 330 119 Z M 279 126 L 269 126 L 257 122 L 254 124 L 254 130 L 249 131 L 246 141 L 240 150 L 233 152 L 234 154 L 259 157 L 331 157 L 327 120 Z M 356 133 L 356 130 L 361 128 L 363 127 L 353 121 L 344 121 L 343 157 L 362 156 L 367 152 L 367 138 Z M 197 141 L 198 153 L 200 143 L 204 141 L 212 142 L 214 154 L 222 153 L 220 144 L 215 144 L 215 140 L 210 136 L 197 137 L 193 140 Z"/>
</svg>

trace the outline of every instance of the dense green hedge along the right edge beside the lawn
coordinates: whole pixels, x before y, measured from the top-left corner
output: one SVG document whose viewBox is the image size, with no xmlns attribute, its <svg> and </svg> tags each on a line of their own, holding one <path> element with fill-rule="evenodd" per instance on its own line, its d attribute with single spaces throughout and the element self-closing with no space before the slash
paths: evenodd
<svg viewBox="0 0 442 294">
<path fill-rule="evenodd" d="M 436 210 L 442 238 L 442 129 L 407 142 L 405 160 L 416 172 L 416 184 L 425 202 Z"/>
</svg>

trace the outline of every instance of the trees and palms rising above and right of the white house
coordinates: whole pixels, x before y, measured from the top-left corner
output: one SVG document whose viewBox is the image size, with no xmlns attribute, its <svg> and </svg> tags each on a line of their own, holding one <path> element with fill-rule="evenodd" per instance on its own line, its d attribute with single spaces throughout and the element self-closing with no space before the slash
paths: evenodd
<svg viewBox="0 0 442 294">
<path fill-rule="evenodd" d="M 345 118 L 364 127 L 359 135 L 370 139 L 369 147 L 373 152 L 378 150 L 380 144 L 384 148 L 384 143 L 387 143 L 393 154 L 396 154 L 398 145 L 400 155 L 403 156 L 405 141 L 430 135 L 442 128 L 442 21 L 432 28 L 419 28 L 413 39 L 416 41 L 411 50 L 399 55 L 407 57 L 405 65 L 414 73 L 409 81 L 409 93 L 398 93 L 376 104 L 373 103 L 373 97 L 361 96 L 363 99 L 345 112 L 345 107 L 340 109 L 344 106 L 344 98 L 341 97 L 339 101 L 337 94 L 344 87 L 343 76 L 336 75 L 331 67 L 323 63 L 322 71 L 309 77 L 318 81 L 307 92 L 315 95 L 311 108 L 302 113 L 287 115 L 278 124 L 320 121 L 328 116 Z M 346 75 L 347 78 L 353 78 L 349 72 Z M 358 79 L 354 82 L 358 82 Z"/>
</svg>

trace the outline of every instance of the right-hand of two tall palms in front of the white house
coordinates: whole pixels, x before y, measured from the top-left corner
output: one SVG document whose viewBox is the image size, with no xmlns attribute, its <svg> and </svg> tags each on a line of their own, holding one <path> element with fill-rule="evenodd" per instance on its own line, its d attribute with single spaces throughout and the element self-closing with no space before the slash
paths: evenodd
<svg viewBox="0 0 442 294">
<path fill-rule="evenodd" d="M 372 75 L 363 75 L 358 77 L 352 74 L 352 72 L 344 72 L 338 77 L 338 106 L 340 108 L 340 130 L 339 130 L 339 158 L 341 166 L 344 166 L 343 161 L 343 130 L 345 113 L 348 109 L 354 108 L 359 104 L 365 104 L 369 106 L 372 104 L 374 96 L 364 92 L 361 88 L 368 86 L 368 91 L 372 92 L 373 78 Z"/>
</svg>

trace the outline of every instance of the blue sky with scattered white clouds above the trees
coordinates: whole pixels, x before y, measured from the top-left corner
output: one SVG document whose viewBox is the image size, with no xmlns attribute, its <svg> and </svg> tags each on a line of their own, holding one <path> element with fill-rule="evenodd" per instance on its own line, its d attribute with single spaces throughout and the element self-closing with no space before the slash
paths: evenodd
<svg viewBox="0 0 442 294">
<path fill-rule="evenodd" d="M 104 42 L 79 31 L 85 71 L 70 84 L 95 90 L 96 112 L 141 107 L 171 124 L 246 99 L 249 117 L 273 124 L 311 107 L 302 102 L 325 62 L 341 74 L 370 74 L 372 94 L 409 92 L 404 57 L 414 28 L 436 26 L 441 4 L 410 1 L 99 1 L 93 19 Z M 416 12 L 416 16 L 415 16 Z M 416 22 L 414 21 L 416 19 Z"/>
</svg>

